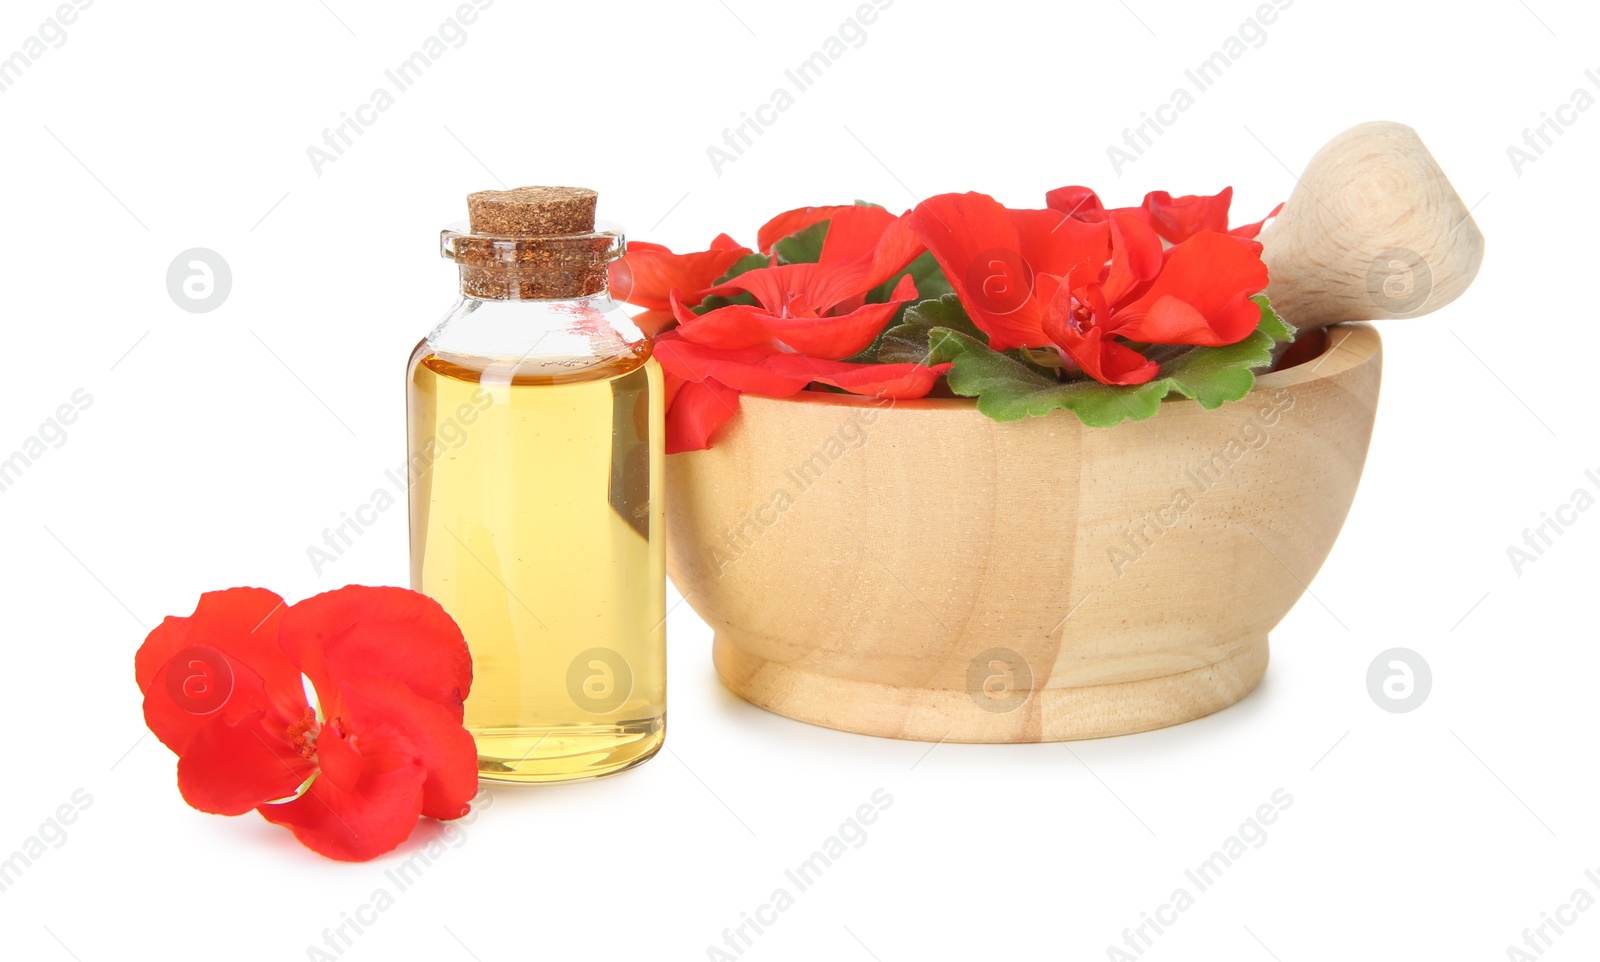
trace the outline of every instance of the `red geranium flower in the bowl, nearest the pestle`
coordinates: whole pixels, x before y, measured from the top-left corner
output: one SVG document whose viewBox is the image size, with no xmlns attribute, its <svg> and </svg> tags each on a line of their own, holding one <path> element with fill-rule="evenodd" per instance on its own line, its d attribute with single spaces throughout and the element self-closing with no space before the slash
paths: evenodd
<svg viewBox="0 0 1600 962">
<path fill-rule="evenodd" d="M 1053 195 L 1075 210 L 942 194 L 909 214 L 995 351 L 1050 347 L 1102 384 L 1144 384 L 1160 368 L 1130 343 L 1214 347 L 1256 328 L 1267 267 L 1254 240 L 1202 229 L 1163 251 L 1149 211 Z"/>
</svg>

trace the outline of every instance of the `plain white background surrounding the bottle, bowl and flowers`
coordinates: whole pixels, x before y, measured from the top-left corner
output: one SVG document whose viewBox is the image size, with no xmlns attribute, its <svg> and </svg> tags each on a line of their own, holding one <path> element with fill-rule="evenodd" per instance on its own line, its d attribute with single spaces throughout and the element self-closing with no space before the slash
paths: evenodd
<svg viewBox="0 0 1600 962">
<path fill-rule="evenodd" d="M 1280 788 L 1293 805 L 1266 844 L 1144 957 L 1504 959 L 1576 888 L 1600 895 L 1600 511 L 1520 575 L 1506 552 L 1600 472 L 1600 109 L 1520 171 L 1507 157 L 1576 88 L 1600 96 L 1600 11 L 1298 0 L 1118 176 L 1106 146 L 1256 3 L 898 0 L 718 174 L 707 146 L 854 6 L 499 0 L 320 174 L 306 149 L 451 0 L 101 0 L 0 93 L 0 453 L 93 397 L 0 493 L 0 855 L 75 789 L 93 797 L 0 893 L 5 957 L 306 959 L 438 837 L 339 864 L 254 815 L 189 810 L 173 756 L 141 736 L 133 651 L 206 589 L 405 583 L 400 507 L 320 575 L 306 549 L 405 458 L 402 368 L 454 296 L 437 230 L 469 190 L 590 186 L 603 218 L 677 250 L 752 243 L 805 203 L 981 189 L 1024 206 L 1078 182 L 1110 203 L 1234 184 L 1254 219 L 1374 118 L 1421 131 L 1488 258 L 1451 307 L 1384 323 L 1360 495 L 1258 691 L 1165 732 L 930 752 L 741 703 L 682 605 L 670 751 L 493 789 L 342 957 L 706 959 L 880 788 L 893 805 L 866 844 L 746 959 L 1104 959 Z M 0 56 L 53 10 L 8 0 Z M 195 247 L 232 267 L 210 314 L 166 291 Z M 1397 645 L 1434 672 L 1410 714 L 1365 682 Z M 1547 959 L 1600 951 L 1600 909 L 1578 919 Z"/>
</svg>

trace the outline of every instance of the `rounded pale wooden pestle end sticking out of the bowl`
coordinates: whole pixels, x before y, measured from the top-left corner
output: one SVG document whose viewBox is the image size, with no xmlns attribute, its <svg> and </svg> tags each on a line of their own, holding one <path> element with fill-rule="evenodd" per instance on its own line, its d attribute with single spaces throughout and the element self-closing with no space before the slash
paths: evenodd
<svg viewBox="0 0 1600 962">
<path fill-rule="evenodd" d="M 1483 263 L 1483 234 L 1438 162 L 1414 130 L 1382 120 L 1310 158 L 1261 243 L 1267 296 L 1301 330 L 1438 311 Z"/>
</svg>

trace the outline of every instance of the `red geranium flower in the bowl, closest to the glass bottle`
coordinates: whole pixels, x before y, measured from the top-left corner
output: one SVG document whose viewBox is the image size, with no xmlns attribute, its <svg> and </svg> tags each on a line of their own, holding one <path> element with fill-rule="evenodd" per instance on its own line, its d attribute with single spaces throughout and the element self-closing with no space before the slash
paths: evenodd
<svg viewBox="0 0 1600 962">
<path fill-rule="evenodd" d="M 667 451 L 710 447 L 710 435 L 738 411 L 739 394 L 789 397 L 808 384 L 830 384 L 870 397 L 923 397 L 950 365 L 851 363 L 917 296 L 910 277 L 890 299 L 867 293 L 906 267 L 922 245 L 902 218 L 875 206 L 816 206 L 787 211 L 760 232 L 766 251 L 795 230 L 829 221 L 814 264 L 781 264 L 739 274 L 699 291 L 674 290 L 678 325 L 656 338 L 667 373 Z M 747 293 L 755 304 L 694 314 L 704 296 Z"/>
</svg>

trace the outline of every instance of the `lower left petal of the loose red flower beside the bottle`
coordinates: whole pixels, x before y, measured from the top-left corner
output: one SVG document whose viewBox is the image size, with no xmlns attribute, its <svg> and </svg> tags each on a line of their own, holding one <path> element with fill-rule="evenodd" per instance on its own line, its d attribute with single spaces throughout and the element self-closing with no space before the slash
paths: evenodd
<svg viewBox="0 0 1600 962">
<path fill-rule="evenodd" d="M 178 791 L 200 812 L 243 815 L 293 796 L 317 765 L 290 744 L 282 719 L 256 711 L 238 722 L 214 717 L 178 757 Z"/>
</svg>

